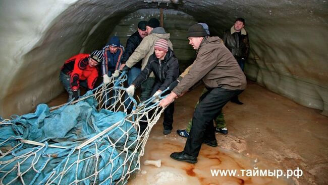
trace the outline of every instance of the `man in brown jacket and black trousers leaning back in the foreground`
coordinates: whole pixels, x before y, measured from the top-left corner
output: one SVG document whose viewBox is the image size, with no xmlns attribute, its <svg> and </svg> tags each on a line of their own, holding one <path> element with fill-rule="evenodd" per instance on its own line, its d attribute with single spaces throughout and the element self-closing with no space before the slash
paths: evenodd
<svg viewBox="0 0 328 185">
<path fill-rule="evenodd" d="M 170 95 L 161 100 L 159 106 L 168 106 L 198 81 L 205 83 L 208 91 L 199 98 L 185 148 L 170 155 L 175 160 L 196 163 L 202 143 L 217 146 L 213 119 L 231 98 L 246 88 L 246 77 L 220 38 L 207 36 L 199 24 L 192 25 L 187 36 L 189 44 L 198 51 L 196 60 L 188 74 Z"/>
</svg>

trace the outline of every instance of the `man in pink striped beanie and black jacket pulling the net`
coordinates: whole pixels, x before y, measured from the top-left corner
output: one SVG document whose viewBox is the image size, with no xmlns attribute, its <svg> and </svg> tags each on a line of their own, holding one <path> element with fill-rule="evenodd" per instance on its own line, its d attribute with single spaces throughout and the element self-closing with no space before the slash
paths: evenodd
<svg viewBox="0 0 328 185">
<path fill-rule="evenodd" d="M 151 96 L 157 97 L 163 90 L 168 88 L 170 84 L 175 81 L 179 76 L 179 62 L 174 55 L 171 48 L 169 48 L 168 41 L 159 39 L 154 45 L 154 54 L 150 55 L 146 67 L 142 70 L 139 76 L 132 82 L 126 89 L 129 96 L 133 96 L 135 87 L 141 85 L 153 72 L 155 75 L 155 83 L 152 87 Z M 171 93 L 166 91 L 165 96 Z M 164 131 L 163 134 L 171 133 L 173 124 L 174 103 L 170 104 L 164 111 Z M 140 122 L 141 133 L 146 129 L 147 123 Z"/>
</svg>

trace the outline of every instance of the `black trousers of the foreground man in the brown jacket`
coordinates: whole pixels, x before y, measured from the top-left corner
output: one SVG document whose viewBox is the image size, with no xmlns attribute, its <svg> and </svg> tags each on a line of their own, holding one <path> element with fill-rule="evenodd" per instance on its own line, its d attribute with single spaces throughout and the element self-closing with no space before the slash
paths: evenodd
<svg viewBox="0 0 328 185">
<path fill-rule="evenodd" d="M 203 94 L 195 108 L 192 126 L 186 141 L 184 152 L 197 157 L 204 140 L 216 140 L 213 119 L 233 97 L 243 90 L 229 90 L 225 88 L 212 88 Z"/>
</svg>

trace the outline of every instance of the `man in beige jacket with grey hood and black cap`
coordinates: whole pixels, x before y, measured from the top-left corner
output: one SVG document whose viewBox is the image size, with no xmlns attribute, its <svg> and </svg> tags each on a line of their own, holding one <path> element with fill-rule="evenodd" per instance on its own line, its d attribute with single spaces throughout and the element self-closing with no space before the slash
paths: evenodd
<svg viewBox="0 0 328 185">
<path fill-rule="evenodd" d="M 152 27 L 153 26 L 153 27 Z M 158 27 L 159 21 L 155 18 L 151 18 L 146 24 L 146 32 L 147 30 L 150 32 L 145 38 L 142 39 L 140 45 L 135 49 L 129 59 L 125 62 L 125 66 L 121 69 L 129 70 L 132 66 L 134 66 L 139 60 L 142 59 L 141 69 L 144 69 L 147 65 L 149 56 L 154 53 L 154 45 L 158 39 L 165 39 L 168 41 L 169 47 L 172 48 L 172 43 L 169 40 L 170 34 L 166 33 L 164 28 Z M 152 90 L 152 86 L 155 82 L 155 76 L 153 73 L 149 75 L 149 77 L 141 84 L 141 101 L 145 101 L 149 99 L 150 93 Z"/>
</svg>

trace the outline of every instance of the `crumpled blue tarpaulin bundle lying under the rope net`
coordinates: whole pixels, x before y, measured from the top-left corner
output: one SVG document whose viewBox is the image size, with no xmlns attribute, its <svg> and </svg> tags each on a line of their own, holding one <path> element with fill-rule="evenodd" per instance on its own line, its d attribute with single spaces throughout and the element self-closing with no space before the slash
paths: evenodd
<svg viewBox="0 0 328 185">
<path fill-rule="evenodd" d="M 0 178 L 4 184 L 114 184 L 138 167 L 138 134 L 126 113 L 96 110 L 92 97 L 52 112 L 40 104 L 0 128 Z M 117 122 L 119 126 L 77 150 L 76 147 Z M 21 140 L 44 143 L 36 146 Z M 54 148 L 48 145 L 62 146 Z M 12 149 L 13 148 L 13 149 Z M 10 151 L 9 151 L 10 150 Z M 6 153 L 9 151 L 8 153 Z M 126 167 L 129 162 L 128 167 Z M 24 181 L 24 182 L 23 182 Z"/>
</svg>

